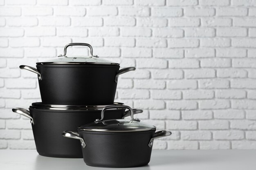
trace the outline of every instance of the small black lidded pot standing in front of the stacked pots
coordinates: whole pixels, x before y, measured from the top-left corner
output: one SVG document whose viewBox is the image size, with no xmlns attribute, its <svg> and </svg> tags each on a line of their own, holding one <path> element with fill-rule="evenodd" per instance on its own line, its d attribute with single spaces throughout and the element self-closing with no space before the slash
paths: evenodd
<svg viewBox="0 0 256 170">
<path fill-rule="evenodd" d="M 127 108 L 131 119 L 104 120 L 105 110 Z M 165 130 L 133 118 L 129 106 L 106 106 L 101 119 L 78 127 L 78 132 L 66 130 L 64 137 L 79 139 L 83 160 L 88 166 L 128 168 L 145 166 L 149 163 L 153 141 L 171 135 Z"/>
</svg>

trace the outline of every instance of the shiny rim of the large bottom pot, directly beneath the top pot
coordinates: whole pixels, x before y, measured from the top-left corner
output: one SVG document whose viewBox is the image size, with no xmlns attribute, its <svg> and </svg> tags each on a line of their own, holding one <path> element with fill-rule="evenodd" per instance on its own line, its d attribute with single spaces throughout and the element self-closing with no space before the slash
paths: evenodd
<svg viewBox="0 0 256 170">
<path fill-rule="evenodd" d="M 114 102 L 112 105 L 124 105 L 124 103 Z M 34 109 L 47 109 L 47 110 L 102 110 L 109 105 L 50 105 L 42 104 L 42 102 L 32 103 L 29 108 Z M 122 109 L 122 108 L 116 108 Z M 116 110 L 115 109 L 115 110 Z"/>
</svg>

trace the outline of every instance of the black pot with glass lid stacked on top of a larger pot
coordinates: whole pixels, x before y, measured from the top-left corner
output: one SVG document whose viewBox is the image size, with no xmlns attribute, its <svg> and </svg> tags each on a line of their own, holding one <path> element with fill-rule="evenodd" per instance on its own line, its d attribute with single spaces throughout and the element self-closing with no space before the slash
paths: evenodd
<svg viewBox="0 0 256 170">
<path fill-rule="evenodd" d="M 68 46 L 88 46 L 90 57 L 67 57 Z M 36 69 L 37 68 L 37 69 Z M 21 65 L 38 74 L 43 104 L 55 105 L 110 105 L 114 102 L 118 76 L 135 67 L 119 70 L 118 63 L 92 54 L 86 43 L 70 43 L 59 58 L 36 63 L 36 68 Z"/>
</svg>

